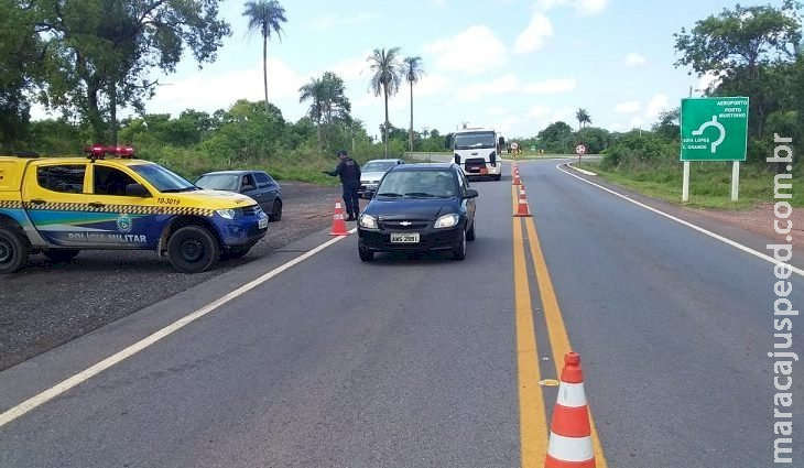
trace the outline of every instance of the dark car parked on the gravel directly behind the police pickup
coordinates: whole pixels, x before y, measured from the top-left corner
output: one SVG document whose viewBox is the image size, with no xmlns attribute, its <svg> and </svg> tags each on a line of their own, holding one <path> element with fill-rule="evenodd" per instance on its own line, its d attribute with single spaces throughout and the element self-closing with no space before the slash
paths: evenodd
<svg viewBox="0 0 804 468">
<path fill-rule="evenodd" d="M 207 191 L 226 191 L 253 198 L 271 221 L 282 219 L 282 187 L 263 171 L 209 172 L 195 182 Z"/>
</svg>

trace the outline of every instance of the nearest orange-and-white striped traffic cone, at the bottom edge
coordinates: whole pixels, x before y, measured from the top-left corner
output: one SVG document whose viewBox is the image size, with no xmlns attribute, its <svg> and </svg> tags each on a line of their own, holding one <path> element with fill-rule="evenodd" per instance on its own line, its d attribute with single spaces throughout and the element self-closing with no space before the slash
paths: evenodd
<svg viewBox="0 0 804 468">
<path fill-rule="evenodd" d="M 589 410 L 584 392 L 580 355 L 567 352 L 553 410 L 544 468 L 595 468 Z"/>
</svg>

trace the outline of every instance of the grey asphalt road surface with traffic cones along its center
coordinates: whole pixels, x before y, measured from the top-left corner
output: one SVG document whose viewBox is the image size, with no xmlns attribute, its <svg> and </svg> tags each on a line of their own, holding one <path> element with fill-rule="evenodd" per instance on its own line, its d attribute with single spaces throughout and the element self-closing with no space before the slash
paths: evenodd
<svg viewBox="0 0 804 468">
<path fill-rule="evenodd" d="M 509 176 L 472 183 L 478 237 L 465 261 L 361 263 L 349 236 L 0 425 L 0 467 L 520 466 L 533 447 L 520 433 L 530 351 L 517 304 L 531 307 L 531 363 L 555 378 L 558 308 L 545 291 L 582 353 L 608 466 L 772 465 L 773 265 L 555 166 L 520 164 L 533 218 L 512 220 Z M 0 424 L 327 240 L 304 238 L 0 372 Z M 514 287 L 524 264 L 530 303 Z M 801 304 L 804 281 L 791 282 Z M 793 374 L 794 401 L 803 380 Z M 555 389 L 529 391 L 548 421 Z"/>
</svg>

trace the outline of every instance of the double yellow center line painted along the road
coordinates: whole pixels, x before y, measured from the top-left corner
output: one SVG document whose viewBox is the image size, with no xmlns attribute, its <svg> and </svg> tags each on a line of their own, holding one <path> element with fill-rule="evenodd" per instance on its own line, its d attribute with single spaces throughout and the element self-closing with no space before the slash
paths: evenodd
<svg viewBox="0 0 804 468">
<path fill-rule="evenodd" d="M 517 186 L 511 187 L 511 200 L 517 208 Z M 531 210 L 532 213 L 532 210 Z M 555 378 L 561 376 L 564 366 L 564 355 L 572 350 L 564 319 L 558 307 L 558 300 L 553 290 L 553 283 L 547 271 L 547 263 L 542 254 L 533 218 L 513 218 L 513 279 L 514 279 L 514 311 L 517 314 L 517 368 L 519 377 L 519 406 L 520 406 L 520 440 L 521 460 L 523 468 L 542 467 L 547 454 L 547 438 L 550 435 L 544 404 L 544 394 L 539 384 L 541 370 L 539 368 L 539 347 L 533 322 L 533 303 L 528 279 L 528 264 L 523 228 L 528 232 L 530 258 L 536 273 L 536 284 L 541 297 L 542 309 L 547 326 L 547 336 L 555 363 Z M 554 403 L 550 403 L 554 404 Z M 595 421 L 591 423 L 591 439 L 595 459 L 598 468 L 607 468 L 604 458 L 600 438 L 597 434 Z"/>
</svg>

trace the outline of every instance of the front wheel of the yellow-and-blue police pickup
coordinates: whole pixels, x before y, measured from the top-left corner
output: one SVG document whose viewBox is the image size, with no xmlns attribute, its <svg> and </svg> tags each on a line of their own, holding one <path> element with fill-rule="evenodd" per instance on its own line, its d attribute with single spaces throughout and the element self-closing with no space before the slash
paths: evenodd
<svg viewBox="0 0 804 468">
<path fill-rule="evenodd" d="M 167 241 L 167 258 L 182 273 L 200 273 L 208 270 L 220 255 L 218 242 L 204 227 L 185 226 Z"/>
</svg>

